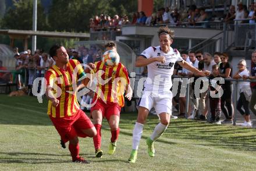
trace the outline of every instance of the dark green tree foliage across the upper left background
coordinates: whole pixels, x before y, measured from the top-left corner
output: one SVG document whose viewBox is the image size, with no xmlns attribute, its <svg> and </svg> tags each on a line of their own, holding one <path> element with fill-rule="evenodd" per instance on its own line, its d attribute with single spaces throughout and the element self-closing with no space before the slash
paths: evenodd
<svg viewBox="0 0 256 171">
<path fill-rule="evenodd" d="M 137 12 L 137 0 L 52 0 L 44 13 L 41 1 L 37 5 L 37 30 L 88 31 L 88 23 L 95 15 L 128 15 Z M 154 10 L 163 6 L 163 0 L 154 1 Z M 13 0 L 13 8 L 2 19 L 2 29 L 31 30 L 33 0 Z"/>
</svg>

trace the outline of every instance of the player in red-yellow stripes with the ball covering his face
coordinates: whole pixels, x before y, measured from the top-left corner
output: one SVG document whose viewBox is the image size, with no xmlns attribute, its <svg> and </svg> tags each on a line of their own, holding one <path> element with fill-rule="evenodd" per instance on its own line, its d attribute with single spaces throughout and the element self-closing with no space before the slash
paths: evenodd
<svg viewBox="0 0 256 171">
<path fill-rule="evenodd" d="M 105 45 L 106 50 L 116 51 L 115 42 L 108 42 Z M 95 155 L 100 158 L 103 154 L 101 150 L 101 123 L 106 117 L 111 128 L 111 143 L 109 144 L 108 154 L 113 154 L 116 149 L 116 140 L 119 136 L 119 117 L 121 107 L 125 105 L 123 97 L 126 91 L 126 98 L 131 99 L 132 90 L 126 67 L 122 63 L 118 63 L 113 67 L 107 67 L 104 62 L 94 63 L 94 69 L 91 74 L 95 73 L 98 80 L 93 102 L 95 105 L 91 107 L 91 116 L 97 130 L 97 136 L 93 137 Z M 104 81 L 105 80 L 105 81 Z"/>
</svg>

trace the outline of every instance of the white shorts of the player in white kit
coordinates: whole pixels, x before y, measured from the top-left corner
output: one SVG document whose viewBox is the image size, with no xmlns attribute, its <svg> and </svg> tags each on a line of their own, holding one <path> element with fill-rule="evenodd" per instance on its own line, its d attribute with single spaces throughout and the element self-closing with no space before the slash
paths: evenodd
<svg viewBox="0 0 256 171">
<path fill-rule="evenodd" d="M 153 97 L 152 94 L 143 92 L 143 95 L 138 101 L 137 107 L 138 106 L 147 108 L 148 111 L 154 107 L 157 115 L 163 112 L 172 115 L 172 92 L 158 95 L 158 97 Z"/>
</svg>

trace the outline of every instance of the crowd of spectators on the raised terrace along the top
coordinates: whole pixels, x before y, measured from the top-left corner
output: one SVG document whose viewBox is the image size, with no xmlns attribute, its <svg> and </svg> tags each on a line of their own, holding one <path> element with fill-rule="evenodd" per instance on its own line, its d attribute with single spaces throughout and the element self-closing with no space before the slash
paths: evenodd
<svg viewBox="0 0 256 171">
<path fill-rule="evenodd" d="M 223 16 L 212 16 L 211 13 L 205 12 L 205 8 L 197 8 L 195 5 L 191 5 L 189 9 L 178 10 L 177 8 L 170 10 L 169 7 L 160 8 L 156 13 L 152 13 L 151 16 L 146 16 L 143 11 L 133 13 L 129 19 L 128 15 L 113 17 L 109 15 L 101 14 L 94 16 L 90 19 L 90 29 L 92 31 L 97 30 L 120 30 L 120 27 L 127 24 L 138 24 L 155 26 L 159 24 L 171 24 L 172 26 L 201 26 L 210 27 L 209 21 L 223 20 L 223 22 L 234 23 L 234 20 L 238 23 L 255 23 L 256 20 L 256 3 L 252 2 L 249 8 L 243 3 L 238 3 L 237 10 L 234 5 L 229 6 L 229 12 Z"/>
</svg>

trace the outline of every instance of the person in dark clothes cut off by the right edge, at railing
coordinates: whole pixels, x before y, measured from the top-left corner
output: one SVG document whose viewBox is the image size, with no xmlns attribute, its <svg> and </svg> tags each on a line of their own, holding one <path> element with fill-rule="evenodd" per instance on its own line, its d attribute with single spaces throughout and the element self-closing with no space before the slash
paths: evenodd
<svg viewBox="0 0 256 171">
<path fill-rule="evenodd" d="M 243 79 L 256 80 L 256 51 L 251 54 L 251 76 L 243 76 Z M 256 115 L 256 83 L 251 83 L 251 95 L 250 109 Z M 253 122 L 253 127 L 256 127 L 256 121 Z"/>
</svg>

